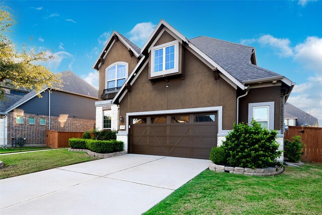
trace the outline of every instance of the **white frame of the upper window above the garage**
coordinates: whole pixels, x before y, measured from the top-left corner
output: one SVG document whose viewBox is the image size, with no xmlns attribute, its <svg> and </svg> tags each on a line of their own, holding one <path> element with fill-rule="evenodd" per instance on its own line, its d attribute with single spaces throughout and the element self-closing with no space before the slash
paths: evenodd
<svg viewBox="0 0 322 215">
<path fill-rule="evenodd" d="M 173 69 L 166 70 L 166 48 L 169 46 L 172 46 L 172 45 L 175 46 L 175 66 Z M 154 51 L 157 49 L 164 50 L 163 70 L 154 72 Z M 158 76 L 178 73 L 178 71 L 179 71 L 179 41 L 178 40 L 152 47 L 152 49 L 151 49 L 151 63 L 150 63 L 150 76 L 151 77 L 158 77 Z"/>
</svg>

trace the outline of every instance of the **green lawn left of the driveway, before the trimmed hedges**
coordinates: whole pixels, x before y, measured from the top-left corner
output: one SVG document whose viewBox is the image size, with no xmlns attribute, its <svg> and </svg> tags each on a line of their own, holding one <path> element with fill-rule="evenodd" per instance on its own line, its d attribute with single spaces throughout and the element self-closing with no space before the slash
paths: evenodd
<svg viewBox="0 0 322 215">
<path fill-rule="evenodd" d="M 85 152 L 68 152 L 67 149 L 0 155 L 0 161 L 5 164 L 5 168 L 0 170 L 0 179 L 97 159 Z"/>
</svg>

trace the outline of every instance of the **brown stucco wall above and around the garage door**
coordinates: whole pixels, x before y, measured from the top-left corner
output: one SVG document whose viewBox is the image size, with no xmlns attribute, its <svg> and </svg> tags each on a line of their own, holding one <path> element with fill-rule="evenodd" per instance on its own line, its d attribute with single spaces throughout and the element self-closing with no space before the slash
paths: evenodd
<svg viewBox="0 0 322 215">
<path fill-rule="evenodd" d="M 223 107 L 223 129 L 232 129 L 236 119 L 236 90 L 223 79 L 215 80 L 212 70 L 190 51 L 185 51 L 185 79 L 148 80 L 148 68 L 142 70 L 131 93 L 120 101 L 120 115 L 129 112 Z M 166 86 L 169 85 L 169 88 Z M 126 120 L 126 119 L 125 119 Z M 124 122 L 125 123 L 125 122 Z"/>
</svg>

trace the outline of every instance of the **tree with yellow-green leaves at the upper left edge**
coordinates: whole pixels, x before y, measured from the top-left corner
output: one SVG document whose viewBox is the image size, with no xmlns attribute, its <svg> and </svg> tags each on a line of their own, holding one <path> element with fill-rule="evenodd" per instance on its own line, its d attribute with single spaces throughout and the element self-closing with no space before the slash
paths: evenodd
<svg viewBox="0 0 322 215">
<path fill-rule="evenodd" d="M 5 99 L 4 86 L 34 89 L 37 93 L 46 87 L 59 87 L 59 75 L 51 73 L 40 62 L 53 59 L 48 51 L 37 52 L 35 48 L 19 52 L 13 41 L 6 36 L 15 24 L 10 8 L 0 5 L 0 101 Z"/>
</svg>

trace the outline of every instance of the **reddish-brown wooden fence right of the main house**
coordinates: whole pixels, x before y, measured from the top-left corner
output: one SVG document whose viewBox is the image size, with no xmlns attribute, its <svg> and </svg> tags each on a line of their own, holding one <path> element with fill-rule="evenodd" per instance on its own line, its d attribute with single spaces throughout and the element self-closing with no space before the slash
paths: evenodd
<svg viewBox="0 0 322 215">
<path fill-rule="evenodd" d="M 293 141 L 296 135 L 301 136 L 305 145 L 302 161 L 322 163 L 322 127 L 288 126 L 285 139 Z"/>
</svg>

